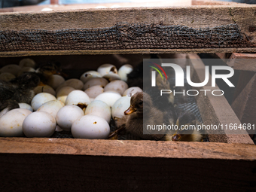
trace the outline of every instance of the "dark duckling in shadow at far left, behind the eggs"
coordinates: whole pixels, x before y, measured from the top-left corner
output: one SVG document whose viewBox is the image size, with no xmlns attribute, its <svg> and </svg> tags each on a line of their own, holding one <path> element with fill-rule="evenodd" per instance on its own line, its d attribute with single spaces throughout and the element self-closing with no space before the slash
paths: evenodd
<svg viewBox="0 0 256 192">
<path fill-rule="evenodd" d="M 11 110 L 19 108 L 19 102 L 30 104 L 40 78 L 35 73 L 24 73 L 11 81 L 0 81 L 0 111 L 4 108 Z"/>
</svg>

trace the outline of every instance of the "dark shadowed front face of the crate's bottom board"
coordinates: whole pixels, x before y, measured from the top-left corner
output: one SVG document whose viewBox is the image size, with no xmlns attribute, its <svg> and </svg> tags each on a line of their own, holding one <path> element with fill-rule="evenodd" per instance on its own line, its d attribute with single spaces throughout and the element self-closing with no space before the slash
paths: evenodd
<svg viewBox="0 0 256 192">
<path fill-rule="evenodd" d="M 5 192 L 256 190 L 255 160 L 1 154 L 0 166 Z"/>
</svg>

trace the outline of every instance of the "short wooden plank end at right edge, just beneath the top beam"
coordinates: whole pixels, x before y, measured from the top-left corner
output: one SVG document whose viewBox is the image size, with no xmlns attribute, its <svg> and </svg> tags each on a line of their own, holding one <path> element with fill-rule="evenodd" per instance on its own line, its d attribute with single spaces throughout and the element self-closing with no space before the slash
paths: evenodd
<svg viewBox="0 0 256 192">
<path fill-rule="evenodd" d="M 256 72 L 256 54 L 232 53 L 227 65 L 236 70 Z"/>
</svg>

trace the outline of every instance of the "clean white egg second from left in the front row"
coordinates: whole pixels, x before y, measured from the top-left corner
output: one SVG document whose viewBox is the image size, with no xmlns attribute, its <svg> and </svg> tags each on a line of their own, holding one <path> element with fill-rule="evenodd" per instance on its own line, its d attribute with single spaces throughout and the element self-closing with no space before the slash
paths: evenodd
<svg viewBox="0 0 256 192">
<path fill-rule="evenodd" d="M 55 118 L 44 111 L 35 111 L 23 121 L 23 133 L 27 137 L 50 137 L 55 129 Z"/>
</svg>

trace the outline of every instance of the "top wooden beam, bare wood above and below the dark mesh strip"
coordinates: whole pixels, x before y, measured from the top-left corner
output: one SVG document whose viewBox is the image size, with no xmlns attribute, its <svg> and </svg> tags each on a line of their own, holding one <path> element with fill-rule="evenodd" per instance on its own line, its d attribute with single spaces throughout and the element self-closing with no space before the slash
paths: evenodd
<svg viewBox="0 0 256 192">
<path fill-rule="evenodd" d="M 185 1 L 187 2 L 187 1 Z M 199 5 L 203 4 L 203 5 Z M 213 4 L 213 5 L 212 5 Z M 163 6 L 163 4 L 161 4 Z M 182 49 L 121 49 L 121 50 L 45 50 L 3 51 L 0 56 L 32 56 L 63 54 L 109 53 L 238 53 L 256 50 L 256 5 L 192 1 L 188 5 L 167 7 L 133 7 L 75 9 L 56 11 L 20 11 L 0 14 L 1 30 L 24 29 L 97 29 L 119 22 L 154 23 L 163 26 L 181 25 L 194 29 L 236 24 L 251 47 L 182 48 Z M 87 5 L 84 5 L 87 6 Z M 126 5 L 127 6 L 127 5 Z M 129 6 L 129 5 L 128 5 Z M 65 6 L 64 6 L 65 7 Z M 68 7 L 71 8 L 71 7 Z M 81 6 L 81 8 L 83 8 Z M 63 8 L 64 9 L 64 8 Z M 22 8 L 20 10 L 23 10 Z M 26 9 L 25 9 L 26 10 Z M 5 37 L 2 37 L 3 39 Z M 15 38 L 15 37 L 14 37 Z"/>
</svg>

